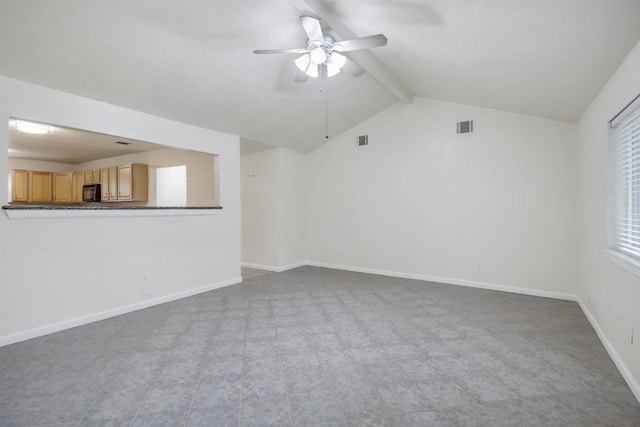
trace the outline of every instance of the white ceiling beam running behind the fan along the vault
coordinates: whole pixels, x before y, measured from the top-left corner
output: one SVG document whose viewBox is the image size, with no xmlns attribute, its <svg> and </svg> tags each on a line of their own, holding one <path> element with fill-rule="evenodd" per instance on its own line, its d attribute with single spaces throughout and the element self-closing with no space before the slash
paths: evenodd
<svg viewBox="0 0 640 427">
<path fill-rule="evenodd" d="M 327 8 L 320 0 L 290 0 L 290 4 L 296 8 L 301 15 L 321 18 L 344 40 L 360 37 L 351 31 L 342 19 Z M 400 101 L 411 103 L 413 95 L 409 89 L 368 49 L 349 52 L 349 57 L 360 64 L 362 68 Z"/>
</svg>

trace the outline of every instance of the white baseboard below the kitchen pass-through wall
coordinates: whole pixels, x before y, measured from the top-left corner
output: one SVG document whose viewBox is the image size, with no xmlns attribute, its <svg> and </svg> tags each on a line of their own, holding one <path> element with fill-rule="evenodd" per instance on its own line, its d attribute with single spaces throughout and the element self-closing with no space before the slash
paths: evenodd
<svg viewBox="0 0 640 427">
<path fill-rule="evenodd" d="M 0 347 L 9 345 L 9 344 L 14 344 L 20 341 L 26 341 L 32 338 L 41 337 L 43 335 L 49 335 L 54 332 L 60 332 L 65 329 L 75 328 L 76 326 L 86 325 L 88 323 L 97 322 L 99 320 L 108 319 L 110 317 L 119 316 L 121 314 L 131 313 L 133 311 L 153 307 L 154 305 L 164 304 L 164 303 L 179 300 L 182 298 L 187 298 L 193 295 L 201 294 L 203 292 L 224 288 L 226 286 L 235 285 L 241 282 L 242 282 L 242 277 L 234 277 L 229 280 L 223 280 L 222 282 L 212 283 L 209 285 L 201 286 L 199 288 L 189 289 L 182 292 L 176 292 L 175 294 L 163 295 L 156 298 L 146 299 L 144 301 L 140 301 L 134 304 L 125 305 L 122 307 L 116 307 L 110 310 L 105 310 L 98 313 L 92 313 L 85 316 L 76 317 L 73 319 L 63 320 L 62 322 L 57 322 L 50 325 L 28 329 L 26 331 L 17 332 L 15 334 L 0 337 Z"/>
</svg>

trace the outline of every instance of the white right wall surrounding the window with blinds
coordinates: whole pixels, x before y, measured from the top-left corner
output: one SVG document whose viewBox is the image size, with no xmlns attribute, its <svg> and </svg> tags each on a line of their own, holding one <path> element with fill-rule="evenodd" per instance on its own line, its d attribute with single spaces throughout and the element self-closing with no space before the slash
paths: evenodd
<svg viewBox="0 0 640 427">
<path fill-rule="evenodd" d="M 640 44 L 636 45 L 579 122 L 579 296 L 614 360 L 640 399 L 640 276 L 606 254 L 608 121 L 640 94 Z M 631 344 L 631 330 L 635 343 Z M 626 366 L 626 368 L 625 368 Z"/>
</svg>

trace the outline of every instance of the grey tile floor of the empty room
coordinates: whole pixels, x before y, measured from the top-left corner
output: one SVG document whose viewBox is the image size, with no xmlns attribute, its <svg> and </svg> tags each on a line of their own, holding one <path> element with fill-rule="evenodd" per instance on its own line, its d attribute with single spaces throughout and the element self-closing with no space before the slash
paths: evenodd
<svg viewBox="0 0 640 427">
<path fill-rule="evenodd" d="M 0 348 L 8 426 L 638 426 L 575 303 L 303 267 Z"/>
</svg>

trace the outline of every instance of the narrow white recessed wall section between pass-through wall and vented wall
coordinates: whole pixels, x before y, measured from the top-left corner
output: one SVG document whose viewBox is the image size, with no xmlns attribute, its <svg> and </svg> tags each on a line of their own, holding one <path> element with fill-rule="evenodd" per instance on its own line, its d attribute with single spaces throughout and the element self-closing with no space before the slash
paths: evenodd
<svg viewBox="0 0 640 427">
<path fill-rule="evenodd" d="M 282 271 L 306 262 L 305 158 L 284 148 L 241 156 L 245 265 Z"/>
</svg>

